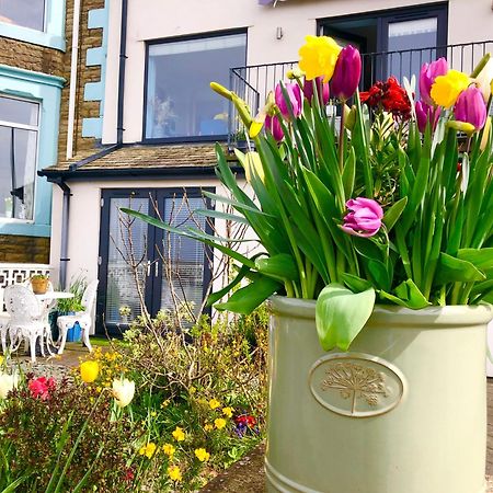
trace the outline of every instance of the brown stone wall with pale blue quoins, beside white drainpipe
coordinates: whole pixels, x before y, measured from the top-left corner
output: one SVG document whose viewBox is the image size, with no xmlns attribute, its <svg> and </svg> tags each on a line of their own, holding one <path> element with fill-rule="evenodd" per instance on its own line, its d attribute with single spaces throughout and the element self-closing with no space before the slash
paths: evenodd
<svg viewBox="0 0 493 493">
<path fill-rule="evenodd" d="M 73 156 L 80 151 L 94 149 L 99 141 L 94 138 L 82 137 L 83 118 L 100 116 L 99 101 L 84 101 L 84 87 L 88 82 L 98 82 L 101 79 L 101 67 L 87 67 L 87 53 L 89 48 L 101 46 L 103 42 L 102 28 L 88 28 L 89 11 L 104 8 L 104 0 L 82 0 L 79 30 L 79 61 L 78 61 L 78 81 L 77 81 L 77 101 L 76 101 L 76 123 L 73 137 Z M 70 62 L 72 56 L 72 25 L 73 25 L 73 0 L 67 0 L 67 53 L 64 57 L 62 77 L 67 84 L 61 92 L 61 112 L 60 112 L 60 133 L 58 139 L 58 159 L 66 160 L 67 152 L 67 124 L 68 124 L 68 103 L 69 103 L 69 80 Z"/>
</svg>

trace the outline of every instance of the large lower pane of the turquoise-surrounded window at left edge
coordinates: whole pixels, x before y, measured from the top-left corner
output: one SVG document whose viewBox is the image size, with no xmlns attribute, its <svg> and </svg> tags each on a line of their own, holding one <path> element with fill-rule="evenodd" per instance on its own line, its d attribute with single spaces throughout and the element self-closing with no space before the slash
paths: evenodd
<svg viewBox="0 0 493 493">
<path fill-rule="evenodd" d="M 37 131 L 0 126 L 0 217 L 33 219 Z"/>
</svg>

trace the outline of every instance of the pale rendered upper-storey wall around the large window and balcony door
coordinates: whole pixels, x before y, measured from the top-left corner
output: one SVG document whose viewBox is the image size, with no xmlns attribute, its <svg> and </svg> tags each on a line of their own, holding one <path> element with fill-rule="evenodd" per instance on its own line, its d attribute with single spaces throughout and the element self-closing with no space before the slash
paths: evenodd
<svg viewBox="0 0 493 493">
<path fill-rule="evenodd" d="M 316 34 L 317 20 L 369 11 L 434 3 L 433 0 L 287 0 L 275 9 L 255 0 L 142 0 L 128 1 L 127 65 L 124 141 L 140 141 L 142 134 L 145 42 L 230 28 L 248 30 L 246 64 L 290 61 L 307 34 Z M 116 139 L 121 0 L 111 4 L 108 62 L 103 142 Z M 276 39 L 276 28 L 283 38 Z M 448 43 L 493 37 L 491 0 L 449 0 Z"/>
</svg>

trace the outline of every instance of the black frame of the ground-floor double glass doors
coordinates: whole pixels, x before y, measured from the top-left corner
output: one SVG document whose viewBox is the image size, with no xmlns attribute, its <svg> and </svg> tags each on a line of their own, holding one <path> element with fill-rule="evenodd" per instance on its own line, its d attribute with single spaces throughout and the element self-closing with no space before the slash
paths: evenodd
<svg viewBox="0 0 493 493">
<path fill-rule="evenodd" d="M 168 188 L 149 188 L 149 187 L 135 187 L 135 188 L 104 188 L 101 193 L 101 227 L 100 227 L 100 246 L 99 246 L 99 267 L 98 267 L 98 278 L 100 279 L 100 287 L 98 289 L 96 298 L 96 321 L 95 321 L 95 333 L 98 335 L 105 334 L 106 332 L 112 336 L 119 336 L 119 330 L 125 329 L 123 325 L 119 328 L 107 325 L 104 320 L 104 313 L 106 309 L 106 294 L 107 294 L 107 261 L 110 253 L 110 213 L 112 198 L 148 198 L 149 204 L 149 215 L 157 217 L 158 214 L 154 210 L 152 204 L 157 204 L 158 208 L 162 206 L 161 200 L 172 196 L 183 196 L 184 191 L 190 197 L 202 197 L 202 191 L 214 192 L 214 187 L 168 187 Z M 211 207 L 211 200 L 205 198 L 205 205 L 207 208 Z M 160 214 L 162 210 L 160 210 Z M 206 232 L 211 234 L 214 221 L 210 219 L 206 222 Z M 162 261 L 157 253 L 156 245 L 162 243 L 163 231 L 148 225 L 147 229 L 147 256 L 150 262 L 150 268 L 152 274 L 146 277 L 146 306 L 149 309 L 151 316 L 156 316 L 158 311 L 161 297 L 161 283 L 162 283 Z M 211 280 L 211 268 L 208 263 L 210 259 L 211 249 L 206 246 L 204 249 L 204 295 L 206 294 L 207 286 Z M 210 308 L 205 310 L 210 313 Z"/>
</svg>

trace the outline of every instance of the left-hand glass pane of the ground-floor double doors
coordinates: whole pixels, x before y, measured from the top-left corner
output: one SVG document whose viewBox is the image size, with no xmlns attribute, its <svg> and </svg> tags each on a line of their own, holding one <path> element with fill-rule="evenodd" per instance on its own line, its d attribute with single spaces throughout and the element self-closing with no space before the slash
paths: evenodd
<svg viewBox="0 0 493 493">
<path fill-rule="evenodd" d="M 119 207 L 128 207 L 142 214 L 149 213 L 148 198 L 112 198 L 110 210 L 110 238 L 107 259 L 107 291 L 105 322 L 116 324 L 124 322 L 119 314 L 123 306 L 130 308 L 130 320 L 141 314 L 137 283 L 129 265 L 129 240 L 135 259 L 142 259 L 137 268 L 139 285 L 145 293 L 147 268 L 147 222 L 137 220 L 127 228 L 128 215 L 119 213 Z M 121 217 L 124 222 L 121 222 Z M 127 222 L 128 225 L 128 222 Z M 126 256 L 126 259 L 124 257 Z"/>
</svg>

